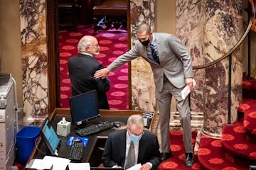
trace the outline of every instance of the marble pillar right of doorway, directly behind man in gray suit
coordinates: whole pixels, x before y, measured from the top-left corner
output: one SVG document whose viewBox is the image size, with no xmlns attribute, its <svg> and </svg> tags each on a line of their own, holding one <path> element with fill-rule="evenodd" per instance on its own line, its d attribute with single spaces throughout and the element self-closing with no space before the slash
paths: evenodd
<svg viewBox="0 0 256 170">
<path fill-rule="evenodd" d="M 131 0 L 131 43 L 136 40 L 137 26 L 147 23 L 154 30 L 155 0 Z M 153 74 L 150 65 L 142 57 L 132 60 L 132 109 L 156 111 Z"/>
</svg>

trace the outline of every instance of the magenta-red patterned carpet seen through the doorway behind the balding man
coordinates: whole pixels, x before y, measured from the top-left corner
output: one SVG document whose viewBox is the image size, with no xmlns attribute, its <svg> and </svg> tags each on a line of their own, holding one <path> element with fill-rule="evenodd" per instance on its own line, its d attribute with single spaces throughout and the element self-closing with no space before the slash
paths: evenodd
<svg viewBox="0 0 256 170">
<path fill-rule="evenodd" d="M 71 96 L 71 85 L 68 75 L 68 59 L 78 55 L 78 41 L 84 35 L 94 35 L 93 26 L 79 26 L 78 33 L 67 30 L 59 31 L 60 43 L 60 107 L 69 108 L 69 98 Z M 107 30 L 99 31 L 97 35 L 100 45 L 100 55 L 97 60 L 107 67 L 119 55 L 127 52 L 127 31 L 126 30 Z M 124 64 L 114 72 L 109 74 L 110 91 L 107 92 L 110 109 L 127 109 L 128 92 L 128 67 Z"/>
</svg>

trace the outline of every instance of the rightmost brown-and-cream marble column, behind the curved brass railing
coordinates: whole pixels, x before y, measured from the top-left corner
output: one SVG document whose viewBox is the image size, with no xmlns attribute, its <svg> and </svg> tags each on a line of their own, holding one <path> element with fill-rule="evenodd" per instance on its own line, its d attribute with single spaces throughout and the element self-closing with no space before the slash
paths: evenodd
<svg viewBox="0 0 256 170">
<path fill-rule="evenodd" d="M 242 37 L 243 5 L 245 1 L 206 0 L 204 51 L 206 62 L 218 59 Z M 242 98 L 242 47 L 232 55 L 231 121 L 237 119 Z M 220 137 L 228 120 L 228 58 L 206 68 L 203 133 Z"/>
</svg>

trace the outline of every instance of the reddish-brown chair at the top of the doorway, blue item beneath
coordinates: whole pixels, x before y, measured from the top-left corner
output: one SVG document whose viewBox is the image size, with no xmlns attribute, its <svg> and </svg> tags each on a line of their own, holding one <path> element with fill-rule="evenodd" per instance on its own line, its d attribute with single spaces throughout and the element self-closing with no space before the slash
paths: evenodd
<svg viewBox="0 0 256 170">
<path fill-rule="evenodd" d="M 127 0 L 95 0 L 92 11 L 95 34 L 100 29 L 127 29 Z"/>
</svg>

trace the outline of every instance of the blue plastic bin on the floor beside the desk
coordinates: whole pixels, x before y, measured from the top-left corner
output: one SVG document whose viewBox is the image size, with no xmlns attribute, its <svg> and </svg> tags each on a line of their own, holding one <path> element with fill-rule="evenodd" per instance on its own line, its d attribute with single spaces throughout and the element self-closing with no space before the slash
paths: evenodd
<svg viewBox="0 0 256 170">
<path fill-rule="evenodd" d="M 18 163 L 24 165 L 28 162 L 35 142 L 40 134 L 40 128 L 37 126 L 24 126 L 16 134 L 16 157 Z"/>
</svg>

